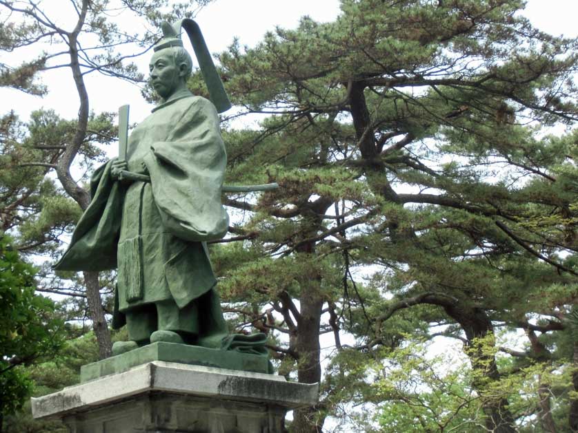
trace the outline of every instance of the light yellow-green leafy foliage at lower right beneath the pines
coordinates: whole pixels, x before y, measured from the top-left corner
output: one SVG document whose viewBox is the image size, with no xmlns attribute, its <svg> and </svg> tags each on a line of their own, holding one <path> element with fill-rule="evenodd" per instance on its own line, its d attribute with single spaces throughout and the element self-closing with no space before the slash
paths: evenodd
<svg viewBox="0 0 578 433">
<path fill-rule="evenodd" d="M 542 432 L 531 415 L 541 386 L 550 392 L 555 415 L 568 411 L 568 394 L 561 390 L 568 388 L 569 371 L 563 366 L 535 362 L 519 368 L 512 357 L 500 357 L 500 368 L 511 374 L 490 381 L 488 371 L 473 369 L 455 343 L 444 341 L 444 352 L 436 354 L 432 341 L 406 337 L 403 346 L 374 350 L 371 357 L 343 350 L 332 359 L 325 391 L 337 414 L 358 431 L 486 432 L 484 408 L 506 398 L 517 431 Z M 492 341 L 478 344 L 486 356 L 495 355 Z M 472 386 L 479 381 L 484 387 Z"/>
</svg>

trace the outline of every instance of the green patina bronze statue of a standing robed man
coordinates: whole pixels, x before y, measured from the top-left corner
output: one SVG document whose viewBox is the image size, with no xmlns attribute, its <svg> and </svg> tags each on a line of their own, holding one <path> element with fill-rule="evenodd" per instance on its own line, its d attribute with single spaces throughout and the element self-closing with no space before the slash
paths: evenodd
<svg viewBox="0 0 578 433">
<path fill-rule="evenodd" d="M 229 335 L 215 292 L 206 241 L 228 230 L 226 151 L 215 105 L 186 87 L 192 61 L 178 35 L 183 23 L 163 23 L 150 61 L 161 103 L 130 134 L 126 159 L 94 172 L 92 202 L 55 269 L 118 269 L 113 326 L 126 323 L 129 341 L 117 341 L 113 355 L 161 341 L 266 356 L 265 335 Z M 204 64 L 191 39 L 212 99 L 226 109 L 222 84 L 210 85 L 218 76 L 202 36 Z"/>
</svg>

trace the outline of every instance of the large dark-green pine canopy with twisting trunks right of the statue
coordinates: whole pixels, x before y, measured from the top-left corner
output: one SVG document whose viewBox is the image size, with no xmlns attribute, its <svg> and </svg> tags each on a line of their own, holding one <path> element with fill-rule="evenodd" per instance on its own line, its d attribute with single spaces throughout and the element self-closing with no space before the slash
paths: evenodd
<svg viewBox="0 0 578 433">
<path fill-rule="evenodd" d="M 281 372 L 321 381 L 324 333 L 337 353 L 347 331 L 383 360 L 407 332 L 433 339 L 443 325 L 463 341 L 485 428 L 513 432 L 511 394 L 492 394 L 510 374 L 497 350 L 571 368 L 553 340 L 577 296 L 575 134 L 548 131 L 577 120 L 577 41 L 532 28 L 522 7 L 344 0 L 335 22 L 305 17 L 219 56 L 243 107 L 225 120 L 262 119 L 231 123 L 227 181 L 281 188 L 226 198 L 243 243 L 215 248 L 215 262 L 239 324 L 270 332 Z M 502 328 L 524 330 L 528 350 L 500 348 Z M 296 432 L 321 431 L 340 389 L 329 382 Z M 542 385 L 534 413 L 548 412 Z"/>
</svg>

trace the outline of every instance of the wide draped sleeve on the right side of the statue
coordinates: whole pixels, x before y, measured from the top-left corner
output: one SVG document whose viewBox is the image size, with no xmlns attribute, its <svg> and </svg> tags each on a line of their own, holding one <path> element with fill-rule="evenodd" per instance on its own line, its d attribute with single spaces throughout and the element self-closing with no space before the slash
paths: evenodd
<svg viewBox="0 0 578 433">
<path fill-rule="evenodd" d="M 166 119 L 166 140 L 153 142 L 143 160 L 163 226 L 189 242 L 220 239 L 229 218 L 221 204 L 227 156 L 219 116 L 205 98 L 186 101 L 178 118 Z"/>
</svg>

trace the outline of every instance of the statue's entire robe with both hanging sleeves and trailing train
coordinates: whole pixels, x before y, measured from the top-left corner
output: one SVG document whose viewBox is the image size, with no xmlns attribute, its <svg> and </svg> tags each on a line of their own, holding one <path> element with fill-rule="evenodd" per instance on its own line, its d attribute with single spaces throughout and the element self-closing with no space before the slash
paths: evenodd
<svg viewBox="0 0 578 433">
<path fill-rule="evenodd" d="M 166 299 L 183 308 L 197 299 L 201 346 L 263 355 L 264 335 L 228 336 L 212 290 L 217 279 L 205 242 L 223 237 L 229 221 L 221 204 L 226 151 L 215 107 L 188 90 L 172 96 L 134 128 L 126 159 L 129 171 L 148 174 L 150 182 L 113 180 L 112 161 L 94 171 L 90 205 L 54 268 L 117 268 L 117 313 Z"/>
</svg>

